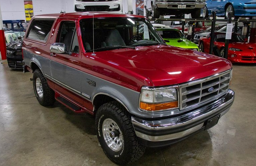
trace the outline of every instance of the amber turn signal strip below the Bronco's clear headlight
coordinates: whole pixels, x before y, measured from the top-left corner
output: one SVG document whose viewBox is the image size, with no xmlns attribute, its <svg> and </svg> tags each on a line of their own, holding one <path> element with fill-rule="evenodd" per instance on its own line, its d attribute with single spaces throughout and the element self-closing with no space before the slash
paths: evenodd
<svg viewBox="0 0 256 166">
<path fill-rule="evenodd" d="M 167 109 L 177 108 L 177 107 L 178 107 L 178 101 L 169 102 L 169 103 L 155 103 L 155 104 L 140 102 L 140 108 L 147 111 L 167 110 Z"/>
</svg>

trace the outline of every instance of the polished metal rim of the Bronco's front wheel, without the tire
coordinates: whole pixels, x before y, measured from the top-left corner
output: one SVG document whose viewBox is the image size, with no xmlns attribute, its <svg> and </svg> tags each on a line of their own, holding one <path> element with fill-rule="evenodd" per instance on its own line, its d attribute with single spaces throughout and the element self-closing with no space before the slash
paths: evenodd
<svg viewBox="0 0 256 166">
<path fill-rule="evenodd" d="M 112 137 L 111 132 L 115 130 L 119 131 L 120 134 L 118 136 Z M 119 129 L 119 126 L 115 121 L 110 118 L 105 119 L 102 124 L 102 133 L 105 142 L 112 150 L 116 152 L 121 150 L 123 146 L 123 136 L 122 132 Z"/>
</svg>

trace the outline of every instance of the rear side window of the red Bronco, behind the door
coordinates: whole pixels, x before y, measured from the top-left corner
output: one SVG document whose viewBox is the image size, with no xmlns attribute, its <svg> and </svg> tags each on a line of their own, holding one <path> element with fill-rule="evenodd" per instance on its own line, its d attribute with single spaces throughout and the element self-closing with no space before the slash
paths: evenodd
<svg viewBox="0 0 256 166">
<path fill-rule="evenodd" d="M 30 26 L 27 38 L 46 41 L 54 20 L 34 20 Z"/>
</svg>

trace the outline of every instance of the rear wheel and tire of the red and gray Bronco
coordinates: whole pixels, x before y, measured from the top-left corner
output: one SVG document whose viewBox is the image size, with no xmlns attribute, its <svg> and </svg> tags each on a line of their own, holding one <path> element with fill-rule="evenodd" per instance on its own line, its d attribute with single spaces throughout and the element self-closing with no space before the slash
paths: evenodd
<svg viewBox="0 0 256 166">
<path fill-rule="evenodd" d="M 50 106 L 55 102 L 54 91 L 48 86 L 47 80 L 40 69 L 36 69 L 33 75 L 33 87 L 38 102 L 42 106 Z"/>
</svg>

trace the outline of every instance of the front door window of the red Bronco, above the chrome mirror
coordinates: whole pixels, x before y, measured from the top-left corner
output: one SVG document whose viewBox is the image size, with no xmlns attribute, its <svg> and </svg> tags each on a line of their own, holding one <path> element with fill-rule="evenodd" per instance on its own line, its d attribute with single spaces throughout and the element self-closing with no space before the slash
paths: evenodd
<svg viewBox="0 0 256 166">
<path fill-rule="evenodd" d="M 65 43 L 68 52 L 79 52 L 75 22 L 63 21 L 58 34 L 56 42 Z"/>
</svg>

